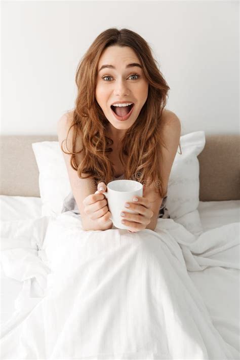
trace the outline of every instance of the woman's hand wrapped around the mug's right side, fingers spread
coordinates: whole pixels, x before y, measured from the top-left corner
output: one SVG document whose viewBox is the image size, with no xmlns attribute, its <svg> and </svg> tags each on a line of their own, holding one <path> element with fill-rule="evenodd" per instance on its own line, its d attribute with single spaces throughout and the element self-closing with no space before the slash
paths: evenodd
<svg viewBox="0 0 240 360">
<path fill-rule="evenodd" d="M 132 203 L 126 203 L 129 204 L 129 207 L 126 207 L 125 210 L 133 210 L 138 214 L 131 214 L 128 211 L 123 211 L 125 216 L 121 215 L 122 219 L 125 221 L 124 225 L 128 226 L 128 230 L 131 232 L 144 230 L 146 226 L 150 224 L 151 218 L 153 216 L 153 211 L 150 209 L 149 200 L 146 197 L 134 196 L 134 198 L 135 197 L 138 199 L 138 201 L 135 202 L 133 200 Z"/>
</svg>

